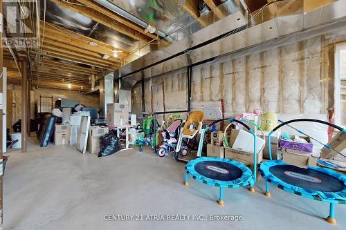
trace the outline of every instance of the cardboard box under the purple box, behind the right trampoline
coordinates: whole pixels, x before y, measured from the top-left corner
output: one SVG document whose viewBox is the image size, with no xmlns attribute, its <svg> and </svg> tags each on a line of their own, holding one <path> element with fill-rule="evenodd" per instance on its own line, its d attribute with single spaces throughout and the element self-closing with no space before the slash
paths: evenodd
<svg viewBox="0 0 346 230">
<path fill-rule="evenodd" d="M 302 168 L 307 166 L 316 166 L 317 157 L 313 157 L 310 153 L 292 153 L 289 150 L 283 151 L 282 160 L 287 164 L 293 164 Z"/>
</svg>

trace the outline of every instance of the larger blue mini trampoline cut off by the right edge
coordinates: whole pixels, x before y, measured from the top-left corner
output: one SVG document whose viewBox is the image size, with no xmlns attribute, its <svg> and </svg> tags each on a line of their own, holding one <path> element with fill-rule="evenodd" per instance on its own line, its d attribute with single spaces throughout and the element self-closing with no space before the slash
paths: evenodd
<svg viewBox="0 0 346 230">
<path fill-rule="evenodd" d="M 268 146 L 271 146 L 271 135 L 278 128 L 293 122 L 318 122 L 333 126 L 339 131 L 346 133 L 346 130 L 316 119 L 294 119 L 283 122 L 273 129 L 268 135 Z M 300 133 L 302 133 L 300 131 Z M 330 146 L 325 145 L 327 148 Z M 334 207 L 335 204 L 346 204 L 346 175 L 342 175 L 331 169 L 321 167 L 308 167 L 307 169 L 286 164 L 282 160 L 272 160 L 271 148 L 268 148 L 271 161 L 260 164 L 260 173 L 266 180 L 266 196 L 270 197 L 269 183 L 277 186 L 289 193 L 300 195 L 304 198 L 319 200 L 330 203 L 329 216 L 327 222 L 335 224 Z"/>
</svg>

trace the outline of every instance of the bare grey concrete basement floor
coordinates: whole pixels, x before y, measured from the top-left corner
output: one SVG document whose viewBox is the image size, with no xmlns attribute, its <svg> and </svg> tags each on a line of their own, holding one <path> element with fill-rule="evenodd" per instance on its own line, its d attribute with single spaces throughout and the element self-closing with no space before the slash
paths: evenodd
<svg viewBox="0 0 346 230">
<path fill-rule="evenodd" d="M 247 189 L 218 189 L 190 179 L 172 157 L 123 151 L 82 155 L 71 146 L 11 151 L 4 176 L 4 229 L 345 229 L 346 205 L 336 205 L 338 224 L 328 224 L 329 205 L 272 187 L 264 180 Z M 106 214 L 242 215 L 242 221 L 104 221 Z"/>
</svg>

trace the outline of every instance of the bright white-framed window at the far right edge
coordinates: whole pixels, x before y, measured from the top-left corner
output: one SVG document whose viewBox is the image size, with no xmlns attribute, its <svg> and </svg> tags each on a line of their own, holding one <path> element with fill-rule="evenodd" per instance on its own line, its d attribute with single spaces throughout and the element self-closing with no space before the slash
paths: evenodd
<svg viewBox="0 0 346 230">
<path fill-rule="evenodd" d="M 334 107 L 336 124 L 346 127 L 346 44 L 336 46 Z"/>
</svg>

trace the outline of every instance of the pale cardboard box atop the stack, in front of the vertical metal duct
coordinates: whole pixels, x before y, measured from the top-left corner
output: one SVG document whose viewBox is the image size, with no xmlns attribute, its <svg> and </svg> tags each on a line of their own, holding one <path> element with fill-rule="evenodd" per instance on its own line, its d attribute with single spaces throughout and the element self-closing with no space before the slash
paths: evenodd
<svg viewBox="0 0 346 230">
<path fill-rule="evenodd" d="M 129 105 L 121 103 L 107 104 L 107 124 L 122 126 L 129 122 Z"/>
</svg>

